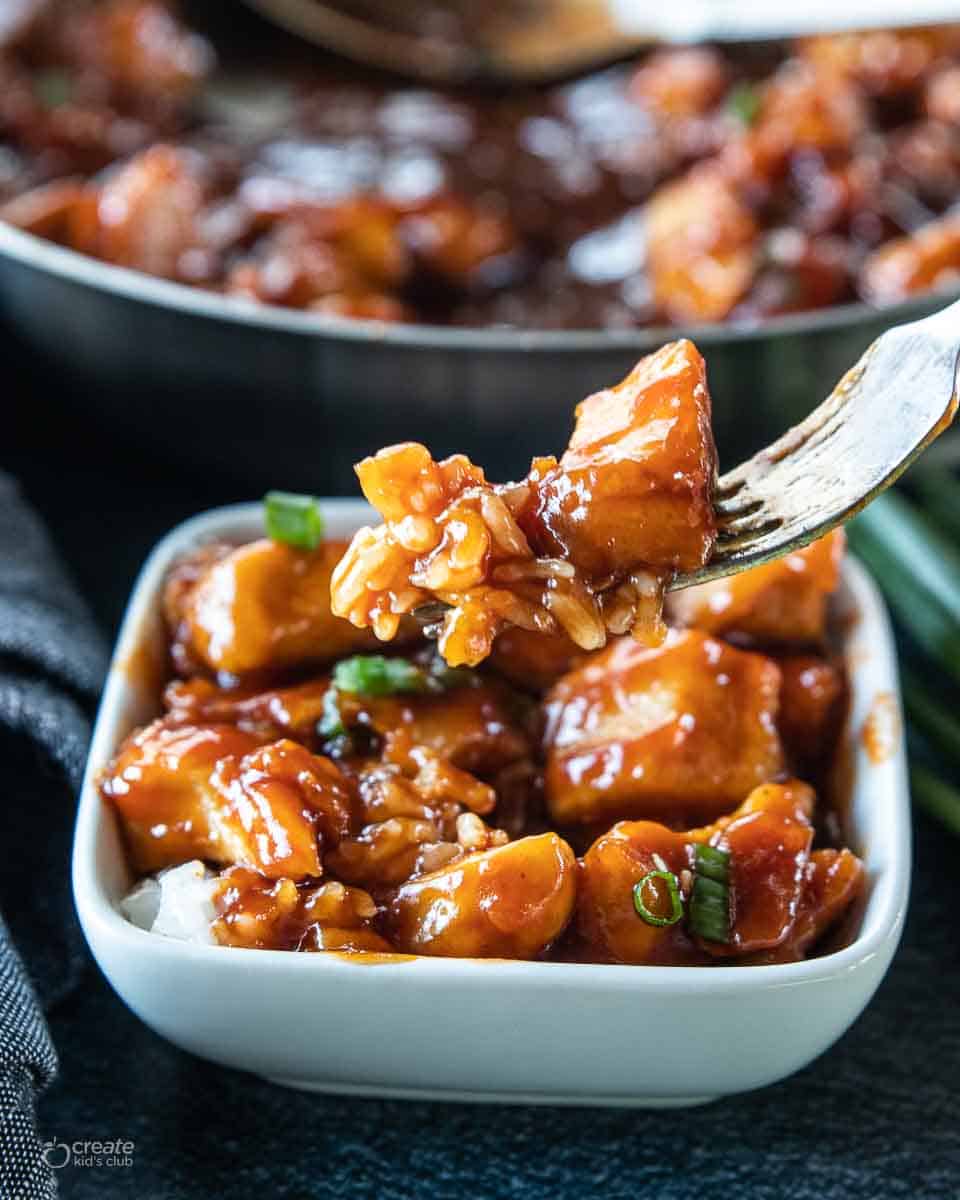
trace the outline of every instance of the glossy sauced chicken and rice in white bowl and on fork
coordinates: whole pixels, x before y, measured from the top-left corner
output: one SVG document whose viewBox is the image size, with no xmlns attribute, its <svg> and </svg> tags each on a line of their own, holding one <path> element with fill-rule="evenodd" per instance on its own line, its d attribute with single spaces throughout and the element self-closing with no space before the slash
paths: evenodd
<svg viewBox="0 0 960 1200">
<path fill-rule="evenodd" d="M 586 401 L 568 452 L 523 485 L 408 443 L 359 464 L 384 523 L 349 548 L 260 540 L 178 563 L 166 712 L 100 780 L 134 871 L 197 864 L 169 887 L 198 884 L 232 947 L 378 962 L 816 953 L 863 881 L 827 786 L 847 700 L 828 620 L 842 533 L 690 589 L 659 644 L 629 622 L 607 624 L 605 648 L 547 624 L 560 584 L 610 617 L 581 571 L 630 578 L 671 547 L 698 562 L 714 470 L 703 364 L 682 341 Z M 541 478 L 578 497 L 551 509 L 548 545 Z M 649 520 L 624 529 L 635 514 Z M 504 607 L 530 600 L 517 565 L 521 584 L 554 584 L 528 624 Z M 499 629 L 455 665 L 450 637 L 404 623 L 421 598 L 494 607 L 527 635 L 511 634 L 511 670 L 487 654 Z M 890 708 L 878 697 L 875 714 Z M 192 902 L 164 878 L 161 904 Z"/>
</svg>

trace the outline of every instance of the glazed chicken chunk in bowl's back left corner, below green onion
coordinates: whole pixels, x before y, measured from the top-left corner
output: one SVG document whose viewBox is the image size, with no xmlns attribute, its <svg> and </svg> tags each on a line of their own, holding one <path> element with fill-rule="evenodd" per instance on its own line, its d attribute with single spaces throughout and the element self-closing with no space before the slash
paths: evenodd
<svg viewBox="0 0 960 1200">
<path fill-rule="evenodd" d="M 299 551 L 264 539 L 179 564 L 164 594 L 178 671 L 242 678 L 370 646 L 368 634 L 330 611 L 330 576 L 343 550 L 337 541 Z"/>
</svg>

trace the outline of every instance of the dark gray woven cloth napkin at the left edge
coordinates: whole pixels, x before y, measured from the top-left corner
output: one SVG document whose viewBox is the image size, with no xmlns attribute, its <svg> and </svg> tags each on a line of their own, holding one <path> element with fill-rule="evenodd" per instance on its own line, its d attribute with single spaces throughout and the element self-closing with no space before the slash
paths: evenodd
<svg viewBox="0 0 960 1200">
<path fill-rule="evenodd" d="M 56 1195 L 35 1128 L 36 1097 L 56 1073 L 41 1003 L 62 1001 L 85 962 L 70 902 L 70 834 L 106 664 L 106 647 L 46 530 L 13 480 L 0 474 L 4 1198 Z"/>
</svg>

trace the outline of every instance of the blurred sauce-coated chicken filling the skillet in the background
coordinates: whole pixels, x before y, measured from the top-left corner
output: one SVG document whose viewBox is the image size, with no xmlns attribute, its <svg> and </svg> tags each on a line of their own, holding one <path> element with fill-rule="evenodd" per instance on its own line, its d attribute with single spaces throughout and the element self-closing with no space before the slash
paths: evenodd
<svg viewBox="0 0 960 1200">
<path fill-rule="evenodd" d="M 216 6 L 196 16 L 217 70 L 157 0 L 36 8 L 0 46 L 2 215 L 154 275 L 320 318 L 617 329 L 886 302 L 960 263 L 937 220 L 960 182 L 955 30 L 494 94 L 245 38 Z"/>
</svg>

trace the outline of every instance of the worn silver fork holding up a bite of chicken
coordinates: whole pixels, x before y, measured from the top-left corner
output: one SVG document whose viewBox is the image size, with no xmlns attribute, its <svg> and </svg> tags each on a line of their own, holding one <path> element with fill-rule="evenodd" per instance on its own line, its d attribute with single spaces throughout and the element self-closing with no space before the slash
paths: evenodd
<svg viewBox="0 0 960 1200">
<path fill-rule="evenodd" d="M 805 421 L 720 476 L 713 557 L 668 587 L 780 558 L 865 508 L 953 421 L 958 353 L 960 301 L 878 337 Z"/>
</svg>

